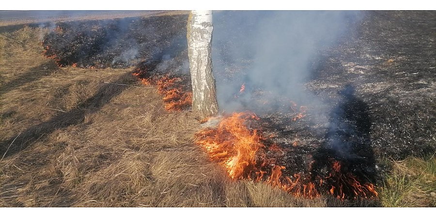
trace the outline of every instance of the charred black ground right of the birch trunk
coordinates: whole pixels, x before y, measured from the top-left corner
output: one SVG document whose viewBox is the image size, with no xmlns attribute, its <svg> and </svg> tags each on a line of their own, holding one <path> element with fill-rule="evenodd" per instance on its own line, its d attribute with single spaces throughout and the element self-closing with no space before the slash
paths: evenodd
<svg viewBox="0 0 436 218">
<path fill-rule="evenodd" d="M 267 157 L 279 157 L 275 164 L 286 167 L 284 175 L 325 178 L 338 161 L 340 170 L 351 173 L 362 185 L 375 185 L 388 170 L 376 159 L 404 159 L 436 151 L 435 17 L 435 12 L 366 12 L 337 45 L 313 57 L 312 75 L 305 87 L 322 104 L 290 99 L 308 107 L 307 116 L 296 121 L 292 118 L 297 113 L 289 110 L 283 96 L 250 91 L 256 87 L 244 80 L 247 65 L 253 61 L 249 55 L 239 55 L 243 59 L 239 64 L 220 59 L 228 66 L 222 76 L 231 72 L 227 78 L 237 81 L 233 91 L 237 99 L 229 96 L 226 104 L 235 100 L 259 105 L 259 109 L 250 108 L 261 118 L 250 127 L 263 131 L 265 144 L 276 143 L 285 150 L 283 155 L 265 148 Z M 229 49 L 227 44 L 224 50 Z M 239 94 L 244 82 L 248 92 Z M 274 108 L 265 110 L 270 105 Z M 321 111 L 329 112 L 323 116 L 326 113 Z M 327 178 L 321 184 L 329 192 L 335 179 Z M 354 196 L 347 188 L 344 192 Z"/>
</svg>

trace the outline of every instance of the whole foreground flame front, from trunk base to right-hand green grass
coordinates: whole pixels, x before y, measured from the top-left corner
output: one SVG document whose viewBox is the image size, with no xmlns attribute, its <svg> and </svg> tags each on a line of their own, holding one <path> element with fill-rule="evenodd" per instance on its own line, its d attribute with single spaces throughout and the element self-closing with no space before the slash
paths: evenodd
<svg viewBox="0 0 436 218">
<path fill-rule="evenodd" d="M 222 165 L 232 179 L 248 179 L 255 175 L 255 181 L 265 181 L 273 187 L 305 198 L 320 197 L 319 189 L 325 184 L 333 184 L 327 193 L 344 199 L 345 196 L 376 197 L 374 185 L 361 185 L 358 178 L 350 172 L 343 173 L 341 163 L 334 161 L 331 173 L 326 178 L 313 182 L 300 173 L 293 176 L 283 175 L 286 168 L 276 164 L 275 158 L 266 158 L 264 138 L 257 129 L 250 129 L 250 119 L 259 119 L 254 113 L 240 112 L 223 118 L 218 127 L 205 128 L 196 134 L 195 142 L 202 146 L 209 157 Z M 205 121 L 203 121 L 204 123 Z M 277 144 L 268 146 L 269 152 L 283 156 L 284 149 Z M 256 162 L 257 160 L 257 162 Z M 265 175 L 269 174 L 265 178 Z M 318 183 L 319 181 L 319 183 Z M 318 185 L 319 184 L 319 185 Z M 325 186 L 324 186 L 325 187 Z"/>
</svg>

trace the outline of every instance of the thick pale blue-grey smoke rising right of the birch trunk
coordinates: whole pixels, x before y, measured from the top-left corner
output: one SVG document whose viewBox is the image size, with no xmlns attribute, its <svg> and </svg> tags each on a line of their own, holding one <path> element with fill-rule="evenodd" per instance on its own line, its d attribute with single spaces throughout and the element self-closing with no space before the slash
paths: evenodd
<svg viewBox="0 0 436 218">
<path fill-rule="evenodd" d="M 212 60 L 220 110 L 279 108 L 280 98 L 317 101 L 305 91 L 321 50 L 357 24 L 353 11 L 214 12 Z M 237 94 L 241 84 L 246 90 Z M 262 90 L 262 91 L 261 91 Z M 259 93 L 268 100 L 262 106 Z"/>
</svg>

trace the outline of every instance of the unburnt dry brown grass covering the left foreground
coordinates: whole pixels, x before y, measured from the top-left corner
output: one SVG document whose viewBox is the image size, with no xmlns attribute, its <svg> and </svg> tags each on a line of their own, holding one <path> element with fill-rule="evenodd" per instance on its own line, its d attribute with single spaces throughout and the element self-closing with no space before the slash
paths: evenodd
<svg viewBox="0 0 436 218">
<path fill-rule="evenodd" d="M 371 204 L 231 181 L 193 143 L 198 115 L 166 111 L 156 88 L 141 86 L 131 69 L 58 68 L 41 55 L 43 31 L 1 38 L 1 206 Z"/>
</svg>

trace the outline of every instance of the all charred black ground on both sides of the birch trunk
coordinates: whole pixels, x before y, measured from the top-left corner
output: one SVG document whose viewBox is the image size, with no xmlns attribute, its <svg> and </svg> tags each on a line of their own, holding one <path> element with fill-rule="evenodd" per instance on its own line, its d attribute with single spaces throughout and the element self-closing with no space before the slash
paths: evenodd
<svg viewBox="0 0 436 218">
<path fill-rule="evenodd" d="M 186 21 L 187 16 L 158 16 L 58 23 L 43 46 L 62 65 L 136 65 L 150 77 L 187 73 Z M 271 98 L 265 90 L 252 99 L 259 102 L 261 119 L 250 127 L 268 136 L 265 143 L 286 149 L 277 163 L 286 167 L 286 175 L 323 178 L 337 160 L 361 181 L 375 182 L 386 171 L 377 159 L 436 151 L 435 12 L 367 12 L 350 28 L 337 45 L 319 52 L 304 84 L 325 106 L 276 97 L 286 103 L 267 108 L 262 102 Z M 232 47 L 234 37 L 243 37 L 238 34 L 229 33 L 221 53 Z M 218 61 L 228 67 L 214 69 L 217 82 L 239 84 L 252 62 L 249 54 L 243 60 Z M 236 87 L 232 97 L 243 95 L 238 92 Z M 288 100 L 306 106 L 306 116 L 294 121 L 298 111 L 289 110 Z M 320 107 L 330 111 L 327 117 L 314 112 Z"/>
</svg>

